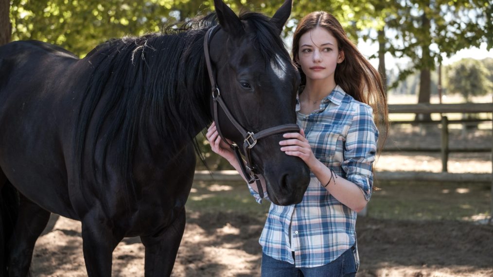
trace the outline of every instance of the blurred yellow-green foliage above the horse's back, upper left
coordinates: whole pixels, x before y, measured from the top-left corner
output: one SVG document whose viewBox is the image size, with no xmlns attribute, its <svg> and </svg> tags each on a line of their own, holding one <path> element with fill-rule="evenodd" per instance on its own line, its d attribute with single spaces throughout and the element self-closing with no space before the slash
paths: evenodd
<svg viewBox="0 0 493 277">
<path fill-rule="evenodd" d="M 201 1 L 12 0 L 13 40 L 37 39 L 84 55 L 109 38 L 157 32 L 176 22 L 174 6 L 191 13 Z"/>
</svg>

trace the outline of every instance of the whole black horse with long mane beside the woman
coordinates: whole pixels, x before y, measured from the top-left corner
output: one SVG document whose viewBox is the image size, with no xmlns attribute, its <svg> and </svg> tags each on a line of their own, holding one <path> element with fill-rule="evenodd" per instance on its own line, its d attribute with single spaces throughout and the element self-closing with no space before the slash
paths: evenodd
<svg viewBox="0 0 493 277">
<path fill-rule="evenodd" d="M 296 122 L 299 77 L 280 39 L 291 1 L 272 19 L 214 4 L 214 16 L 182 30 L 110 40 L 84 59 L 39 41 L 0 47 L 0 275 L 28 275 L 51 212 L 82 222 L 89 276 L 110 276 L 113 249 L 135 236 L 145 276 L 171 274 L 193 138 L 212 120 L 203 41 L 215 20 L 212 68 L 233 116 L 252 132 Z M 219 119 L 241 145 L 221 110 Z M 281 139 L 259 140 L 251 157 L 270 199 L 289 205 L 301 201 L 309 171 L 280 151 Z M 6 205 L 16 191 L 20 205 Z"/>
</svg>

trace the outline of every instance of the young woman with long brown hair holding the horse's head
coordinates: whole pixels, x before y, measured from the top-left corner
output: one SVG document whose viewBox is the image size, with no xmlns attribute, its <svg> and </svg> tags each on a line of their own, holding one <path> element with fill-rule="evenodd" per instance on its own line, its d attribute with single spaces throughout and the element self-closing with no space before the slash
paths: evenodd
<svg viewBox="0 0 493 277">
<path fill-rule="evenodd" d="M 356 213 L 370 199 L 377 151 L 373 112 L 387 118 L 382 81 L 326 12 L 300 21 L 292 51 L 302 79 L 296 105 L 302 130 L 284 134 L 280 150 L 300 157 L 312 178 L 300 204 L 271 204 L 259 240 L 262 276 L 354 276 Z M 214 123 L 207 138 L 212 150 L 241 173 Z M 260 203 L 256 186 L 249 189 Z"/>
</svg>

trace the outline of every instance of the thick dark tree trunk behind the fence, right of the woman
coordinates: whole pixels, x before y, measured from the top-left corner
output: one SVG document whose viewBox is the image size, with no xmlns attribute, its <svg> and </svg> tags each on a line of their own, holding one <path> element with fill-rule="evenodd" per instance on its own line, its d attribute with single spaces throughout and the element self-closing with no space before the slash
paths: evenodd
<svg viewBox="0 0 493 277">
<path fill-rule="evenodd" d="M 426 17 L 426 13 L 423 12 L 421 16 L 422 28 L 423 28 L 423 40 L 421 41 L 421 48 L 423 51 L 423 56 L 421 57 L 421 74 L 420 74 L 420 92 L 418 94 L 418 103 L 430 103 L 431 96 L 431 76 L 430 68 L 433 63 L 430 57 L 430 20 Z M 431 115 L 429 113 L 416 114 L 416 121 L 419 120 L 431 120 Z"/>
</svg>

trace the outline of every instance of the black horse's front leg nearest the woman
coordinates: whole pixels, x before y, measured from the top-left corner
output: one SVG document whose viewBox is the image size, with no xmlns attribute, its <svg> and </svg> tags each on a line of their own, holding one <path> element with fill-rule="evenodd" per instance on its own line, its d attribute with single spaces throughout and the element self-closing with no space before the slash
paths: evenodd
<svg viewBox="0 0 493 277">
<path fill-rule="evenodd" d="M 160 234 L 141 237 L 145 246 L 145 277 L 170 276 L 185 231 L 185 208 Z"/>
</svg>

